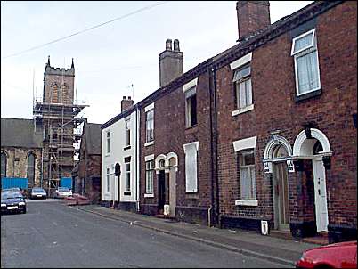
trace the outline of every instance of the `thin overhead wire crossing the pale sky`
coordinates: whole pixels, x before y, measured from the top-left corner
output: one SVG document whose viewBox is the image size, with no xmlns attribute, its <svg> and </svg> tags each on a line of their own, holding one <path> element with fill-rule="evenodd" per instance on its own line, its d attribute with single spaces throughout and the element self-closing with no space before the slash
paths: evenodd
<svg viewBox="0 0 358 269">
<path fill-rule="evenodd" d="M 89 30 L 102 27 L 103 25 L 109 24 L 109 23 L 111 23 L 111 22 L 113 22 L 113 21 L 122 20 L 122 19 L 125 19 L 126 17 L 129 17 L 129 16 L 134 15 L 134 14 L 136 14 L 136 13 L 143 12 L 143 11 L 145 11 L 145 10 L 149 10 L 149 9 L 151 9 L 151 8 L 153 8 L 153 7 L 156 7 L 156 6 L 159 6 L 159 5 L 162 5 L 162 4 L 167 4 L 167 2 L 170 2 L 170 1 L 165 1 L 165 2 L 162 2 L 162 3 L 151 4 L 151 5 L 142 7 L 142 8 L 140 8 L 140 9 L 134 11 L 134 12 L 129 12 L 129 13 L 127 13 L 127 14 L 125 14 L 125 15 L 122 15 L 122 16 L 116 18 L 116 19 L 108 20 L 108 21 L 106 21 L 106 22 L 102 22 L 101 24 L 95 25 L 95 26 L 93 26 L 93 27 L 91 27 L 91 28 L 78 31 L 78 32 L 73 33 L 73 34 L 71 34 L 71 35 L 69 35 L 69 36 L 66 36 L 66 37 L 57 38 L 57 39 L 55 39 L 55 40 L 53 40 L 53 41 L 50 41 L 50 42 L 47 42 L 47 43 L 45 43 L 45 44 L 43 44 L 43 45 L 37 45 L 37 46 L 34 46 L 34 47 L 32 47 L 32 48 L 29 48 L 29 49 L 27 49 L 27 50 L 25 50 L 25 51 L 19 52 L 19 53 L 12 53 L 12 54 L 10 54 L 10 55 L 7 55 L 7 56 L 2 57 L 1 59 L 6 59 L 6 58 L 14 57 L 14 56 L 20 55 L 20 54 L 22 54 L 22 53 L 28 53 L 28 52 L 30 52 L 30 51 L 33 51 L 33 50 L 39 49 L 39 48 L 41 48 L 41 47 L 44 47 L 44 46 L 46 46 L 46 45 L 51 45 L 51 44 L 53 44 L 53 43 L 57 43 L 57 42 L 59 42 L 59 41 L 61 41 L 61 40 L 67 39 L 67 38 L 69 38 L 69 37 L 74 37 L 74 36 L 77 36 L 77 35 L 79 35 L 79 34 L 85 33 L 85 32 L 87 32 L 87 31 L 89 31 Z"/>
</svg>

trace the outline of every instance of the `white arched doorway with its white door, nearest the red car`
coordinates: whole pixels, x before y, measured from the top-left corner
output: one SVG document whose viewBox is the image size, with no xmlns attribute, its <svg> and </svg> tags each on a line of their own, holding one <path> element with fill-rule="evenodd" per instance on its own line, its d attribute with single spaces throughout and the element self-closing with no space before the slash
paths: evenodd
<svg viewBox="0 0 358 269">
<path fill-rule="evenodd" d="M 309 128 L 301 131 L 293 147 L 295 159 L 304 159 L 312 162 L 313 192 L 314 196 L 314 219 L 317 232 L 328 232 L 328 206 L 326 188 L 326 167 L 330 166 L 330 142 L 320 130 Z"/>
</svg>

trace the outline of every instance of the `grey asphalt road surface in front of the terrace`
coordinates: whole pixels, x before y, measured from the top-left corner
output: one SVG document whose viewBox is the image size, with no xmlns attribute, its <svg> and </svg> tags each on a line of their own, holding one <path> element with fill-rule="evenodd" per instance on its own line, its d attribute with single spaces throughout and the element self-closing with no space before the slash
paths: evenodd
<svg viewBox="0 0 358 269">
<path fill-rule="evenodd" d="M 27 214 L 1 216 L 1 267 L 278 268 L 64 205 L 30 200 Z"/>
</svg>

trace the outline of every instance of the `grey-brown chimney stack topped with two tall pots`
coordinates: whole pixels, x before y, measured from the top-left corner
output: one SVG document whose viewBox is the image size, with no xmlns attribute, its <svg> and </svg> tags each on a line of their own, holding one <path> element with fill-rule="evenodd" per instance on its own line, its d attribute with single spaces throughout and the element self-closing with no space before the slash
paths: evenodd
<svg viewBox="0 0 358 269">
<path fill-rule="evenodd" d="M 176 77 L 183 74 L 183 53 L 179 48 L 179 40 L 174 40 L 174 50 L 172 40 L 167 39 L 166 50 L 159 54 L 159 82 L 160 87 L 167 85 Z"/>
</svg>

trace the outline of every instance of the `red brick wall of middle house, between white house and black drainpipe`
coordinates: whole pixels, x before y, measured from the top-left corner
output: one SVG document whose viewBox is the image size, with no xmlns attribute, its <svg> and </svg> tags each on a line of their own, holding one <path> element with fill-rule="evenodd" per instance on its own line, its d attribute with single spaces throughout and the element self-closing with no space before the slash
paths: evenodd
<svg viewBox="0 0 358 269">
<path fill-rule="evenodd" d="M 140 111 L 141 118 L 141 205 L 158 203 L 158 181 L 154 178 L 154 198 L 143 198 L 145 193 L 144 157 L 154 154 L 175 152 L 178 156 L 176 173 L 176 206 L 208 208 L 211 200 L 211 143 L 210 143 L 210 103 L 208 91 L 208 74 L 201 75 L 197 86 L 198 125 L 185 127 L 185 94 L 183 87 L 167 94 L 154 104 L 154 145 L 144 147 L 145 112 Z M 185 155 L 184 143 L 199 141 L 198 151 L 198 192 L 185 193 Z M 144 205 L 145 206 L 145 205 Z M 207 210 L 207 209 L 205 209 Z"/>
</svg>

